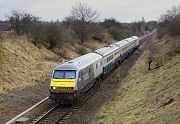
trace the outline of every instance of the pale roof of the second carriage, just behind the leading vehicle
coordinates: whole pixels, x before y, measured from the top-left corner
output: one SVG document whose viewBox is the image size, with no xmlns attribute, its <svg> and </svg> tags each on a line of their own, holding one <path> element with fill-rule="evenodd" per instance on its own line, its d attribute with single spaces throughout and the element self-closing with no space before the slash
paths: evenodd
<svg viewBox="0 0 180 124">
<path fill-rule="evenodd" d="M 98 50 L 95 50 L 94 52 L 100 54 L 101 56 L 107 56 L 108 54 L 116 51 L 117 49 L 119 49 L 119 47 L 115 45 L 109 45 L 109 46 L 100 48 Z"/>
</svg>

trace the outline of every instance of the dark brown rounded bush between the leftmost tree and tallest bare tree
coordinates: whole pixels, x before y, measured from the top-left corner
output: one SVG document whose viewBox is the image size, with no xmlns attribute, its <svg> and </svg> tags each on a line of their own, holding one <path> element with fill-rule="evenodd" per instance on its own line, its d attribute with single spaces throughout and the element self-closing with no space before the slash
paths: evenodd
<svg viewBox="0 0 180 124">
<path fill-rule="evenodd" d="M 43 45 L 52 50 L 61 45 L 61 30 L 55 22 L 33 24 L 30 33 L 36 46 Z"/>
</svg>

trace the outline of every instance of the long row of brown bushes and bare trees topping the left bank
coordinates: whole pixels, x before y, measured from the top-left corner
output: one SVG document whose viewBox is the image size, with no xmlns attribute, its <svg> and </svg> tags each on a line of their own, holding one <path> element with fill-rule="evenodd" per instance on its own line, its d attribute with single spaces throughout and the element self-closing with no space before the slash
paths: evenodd
<svg viewBox="0 0 180 124">
<path fill-rule="evenodd" d="M 16 10 L 7 17 L 17 35 L 27 35 L 36 46 L 45 46 L 56 54 L 61 54 L 58 49 L 64 43 L 85 44 L 91 40 L 107 43 L 110 37 L 121 40 L 132 35 L 143 35 L 145 26 L 143 21 L 122 24 L 115 19 L 105 19 L 97 22 L 98 11 L 82 3 L 73 6 L 71 14 L 62 22 L 44 22 L 39 17 Z"/>
</svg>

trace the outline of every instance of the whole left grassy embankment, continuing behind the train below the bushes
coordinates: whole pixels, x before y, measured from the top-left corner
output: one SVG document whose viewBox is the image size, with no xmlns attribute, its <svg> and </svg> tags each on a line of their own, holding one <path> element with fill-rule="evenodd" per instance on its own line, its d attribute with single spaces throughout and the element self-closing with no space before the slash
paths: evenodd
<svg viewBox="0 0 180 124">
<path fill-rule="evenodd" d="M 36 47 L 25 36 L 3 34 L 0 39 L 0 96 L 38 86 L 50 78 L 53 68 L 64 58 L 72 59 L 81 52 L 90 52 L 104 45 L 97 41 L 83 45 L 63 43 L 57 55 L 44 47 Z M 4 106 L 0 99 L 0 110 Z"/>
</svg>

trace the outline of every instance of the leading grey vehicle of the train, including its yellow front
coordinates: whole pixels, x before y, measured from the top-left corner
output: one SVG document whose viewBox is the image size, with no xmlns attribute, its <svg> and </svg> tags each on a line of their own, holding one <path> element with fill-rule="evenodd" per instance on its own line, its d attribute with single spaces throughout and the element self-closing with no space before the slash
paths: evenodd
<svg viewBox="0 0 180 124">
<path fill-rule="evenodd" d="M 94 85 L 103 72 L 102 56 L 89 53 L 54 69 L 50 98 L 55 102 L 73 101 Z"/>
</svg>

